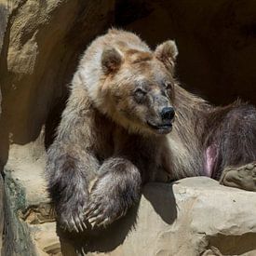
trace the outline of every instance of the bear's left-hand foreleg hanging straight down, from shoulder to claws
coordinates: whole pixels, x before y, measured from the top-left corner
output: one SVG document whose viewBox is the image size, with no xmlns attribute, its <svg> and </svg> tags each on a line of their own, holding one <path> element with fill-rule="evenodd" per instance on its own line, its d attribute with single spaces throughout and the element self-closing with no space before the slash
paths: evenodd
<svg viewBox="0 0 256 256">
<path fill-rule="evenodd" d="M 73 88 L 58 128 L 47 151 L 47 187 L 63 229 L 83 231 L 88 206 L 88 183 L 100 167 L 95 156 L 95 110 L 87 91 Z"/>
</svg>

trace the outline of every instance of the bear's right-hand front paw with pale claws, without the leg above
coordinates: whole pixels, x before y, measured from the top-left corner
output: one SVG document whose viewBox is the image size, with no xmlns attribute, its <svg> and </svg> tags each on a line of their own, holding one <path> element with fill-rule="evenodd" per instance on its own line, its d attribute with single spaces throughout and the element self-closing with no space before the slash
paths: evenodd
<svg viewBox="0 0 256 256">
<path fill-rule="evenodd" d="M 106 226 L 126 214 L 128 205 L 113 189 L 101 191 L 101 186 L 91 192 L 85 213 L 91 228 Z"/>
</svg>

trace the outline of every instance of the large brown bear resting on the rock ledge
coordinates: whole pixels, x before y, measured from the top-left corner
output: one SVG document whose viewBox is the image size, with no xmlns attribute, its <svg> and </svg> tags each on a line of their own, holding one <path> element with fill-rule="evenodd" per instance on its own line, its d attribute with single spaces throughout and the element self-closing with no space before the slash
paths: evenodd
<svg viewBox="0 0 256 256">
<path fill-rule="evenodd" d="M 255 160 L 255 108 L 215 108 L 181 88 L 177 54 L 173 41 L 152 51 L 115 29 L 86 50 L 47 151 L 48 190 L 64 229 L 114 222 L 145 182 L 220 179 L 224 168 Z"/>
</svg>

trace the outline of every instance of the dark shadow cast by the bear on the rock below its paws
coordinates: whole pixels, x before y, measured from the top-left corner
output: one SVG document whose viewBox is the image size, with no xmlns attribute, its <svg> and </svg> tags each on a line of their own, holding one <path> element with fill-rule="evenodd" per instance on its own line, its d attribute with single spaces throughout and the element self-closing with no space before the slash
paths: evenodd
<svg viewBox="0 0 256 256">
<path fill-rule="evenodd" d="M 149 202 L 164 222 L 171 224 L 176 220 L 177 209 L 172 183 L 157 182 L 146 184 L 142 191 L 140 203 L 142 209 L 146 201 Z M 128 233 L 136 229 L 138 209 L 139 204 L 130 209 L 125 217 L 117 220 L 107 228 L 88 229 L 82 234 L 63 232 L 61 228 L 57 228 L 57 233 L 61 240 L 62 254 L 72 256 L 90 255 L 92 253 L 94 255 L 93 252 L 115 250 L 124 243 Z M 138 220 L 138 222 L 141 221 Z"/>
</svg>

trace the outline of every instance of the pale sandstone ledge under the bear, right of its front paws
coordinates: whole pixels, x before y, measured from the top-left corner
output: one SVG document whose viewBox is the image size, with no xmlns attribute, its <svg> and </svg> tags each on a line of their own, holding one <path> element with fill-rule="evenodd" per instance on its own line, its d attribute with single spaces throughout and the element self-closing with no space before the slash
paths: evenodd
<svg viewBox="0 0 256 256">
<path fill-rule="evenodd" d="M 83 245 L 92 255 L 255 255 L 255 200 L 255 193 L 206 177 L 151 183 L 133 227 L 134 212 L 110 231 L 76 239 L 74 248 Z"/>
</svg>

